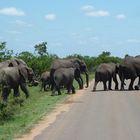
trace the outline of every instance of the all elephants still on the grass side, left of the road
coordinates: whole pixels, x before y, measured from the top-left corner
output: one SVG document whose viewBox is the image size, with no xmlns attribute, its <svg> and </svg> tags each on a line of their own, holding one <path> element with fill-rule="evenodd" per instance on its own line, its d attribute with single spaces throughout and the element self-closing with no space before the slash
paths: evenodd
<svg viewBox="0 0 140 140">
<path fill-rule="evenodd" d="M 50 71 L 42 73 L 40 76 L 41 90 L 47 89 L 47 86 L 52 90 L 52 96 L 60 89 L 65 87 L 68 93 L 75 93 L 73 80 L 78 82 L 79 88 L 82 89 L 84 82 L 81 74 L 86 75 L 86 87 L 89 84 L 89 75 L 86 64 L 80 59 L 57 59 L 51 64 Z M 35 74 L 32 68 L 21 59 L 10 59 L 0 63 L 0 86 L 2 90 L 2 99 L 7 101 L 7 98 L 13 89 L 14 97 L 20 95 L 19 87 L 25 93 L 26 98 L 29 97 L 27 81 L 31 86 L 37 86 L 38 81 L 35 80 Z"/>
</svg>

